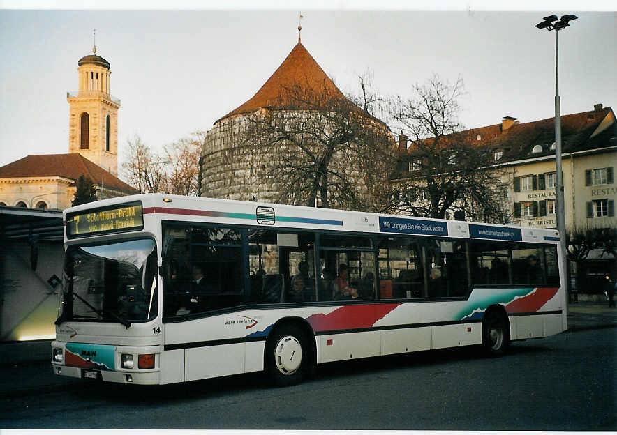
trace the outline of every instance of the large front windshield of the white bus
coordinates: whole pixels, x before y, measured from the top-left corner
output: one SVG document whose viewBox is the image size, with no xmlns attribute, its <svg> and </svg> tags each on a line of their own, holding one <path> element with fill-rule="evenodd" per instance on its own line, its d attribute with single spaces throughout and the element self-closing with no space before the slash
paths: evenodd
<svg viewBox="0 0 617 435">
<path fill-rule="evenodd" d="M 62 321 L 132 322 L 158 313 L 156 244 L 139 239 L 66 250 Z"/>
</svg>

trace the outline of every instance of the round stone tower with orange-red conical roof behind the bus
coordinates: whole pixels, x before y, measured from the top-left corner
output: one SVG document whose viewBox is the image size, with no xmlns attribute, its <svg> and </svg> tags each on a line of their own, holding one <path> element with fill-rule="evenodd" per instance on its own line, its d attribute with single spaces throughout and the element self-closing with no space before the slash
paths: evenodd
<svg viewBox="0 0 617 435">
<path fill-rule="evenodd" d="M 255 116 L 260 114 L 268 116 L 272 112 L 286 111 L 290 114 L 294 111 L 294 116 L 313 116 L 311 110 L 298 107 L 290 100 L 289 89 L 299 85 L 304 93 L 319 96 L 322 101 L 344 100 L 350 107 L 354 107 L 351 110 L 357 109 L 361 112 L 359 107 L 346 100 L 332 79 L 298 41 L 258 92 L 244 104 L 218 119 L 207 132 L 202 148 L 202 196 L 248 201 L 282 201 L 276 199 L 281 186 L 267 173 L 269 168 L 285 157 L 268 148 L 260 148 L 258 152 L 243 152 L 246 147 L 242 141 L 250 141 L 243 136 L 243 128 L 255 123 Z M 327 130 L 328 127 L 324 128 Z M 334 160 L 337 158 L 335 155 Z M 348 178 L 355 180 L 357 191 L 366 193 L 366 185 L 357 168 L 348 166 L 343 170 L 347 172 Z"/>
</svg>

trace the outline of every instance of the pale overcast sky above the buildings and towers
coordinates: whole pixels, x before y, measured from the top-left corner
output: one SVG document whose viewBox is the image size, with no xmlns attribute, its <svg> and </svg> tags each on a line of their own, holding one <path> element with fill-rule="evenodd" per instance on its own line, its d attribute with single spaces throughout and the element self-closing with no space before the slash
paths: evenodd
<svg viewBox="0 0 617 435">
<path fill-rule="evenodd" d="M 134 135 L 161 148 L 209 130 L 251 98 L 297 43 L 299 10 L 302 44 L 341 90 L 354 89 L 365 70 L 381 93 L 401 96 L 433 73 L 450 82 L 460 76 L 467 128 L 503 116 L 553 116 L 555 38 L 535 24 L 553 12 L 574 13 L 579 20 L 559 32 L 562 114 L 600 102 L 617 107 L 614 12 L 376 10 L 378 3 L 349 11 L 340 9 L 349 2 L 336 4 L 75 11 L 11 10 L 15 4 L 0 0 L 0 166 L 68 152 L 66 92 L 77 91 L 77 61 L 91 54 L 95 28 L 96 54 L 110 62 L 111 93 L 121 99 L 120 160 Z"/>
</svg>

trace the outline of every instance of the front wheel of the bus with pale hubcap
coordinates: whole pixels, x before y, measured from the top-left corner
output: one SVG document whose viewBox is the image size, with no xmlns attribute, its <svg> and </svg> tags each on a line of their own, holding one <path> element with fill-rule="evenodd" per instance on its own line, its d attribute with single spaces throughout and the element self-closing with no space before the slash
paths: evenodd
<svg viewBox="0 0 617 435">
<path fill-rule="evenodd" d="M 266 344 L 266 373 L 277 387 L 300 383 L 311 368 L 311 350 L 306 334 L 296 325 L 273 331 Z"/>
</svg>

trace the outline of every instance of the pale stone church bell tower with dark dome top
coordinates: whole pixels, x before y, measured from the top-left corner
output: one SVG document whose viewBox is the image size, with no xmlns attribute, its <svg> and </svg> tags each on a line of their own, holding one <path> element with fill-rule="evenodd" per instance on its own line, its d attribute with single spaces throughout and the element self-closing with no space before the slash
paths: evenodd
<svg viewBox="0 0 617 435">
<path fill-rule="evenodd" d="M 77 63 L 79 91 L 66 93 L 68 152 L 79 153 L 117 176 L 120 100 L 110 95 L 110 63 L 96 56 L 96 45 L 92 51 Z"/>
</svg>

